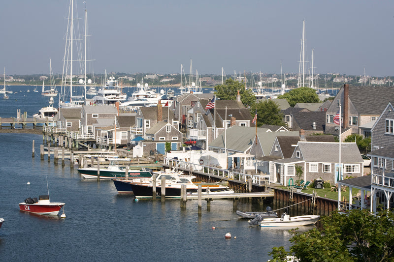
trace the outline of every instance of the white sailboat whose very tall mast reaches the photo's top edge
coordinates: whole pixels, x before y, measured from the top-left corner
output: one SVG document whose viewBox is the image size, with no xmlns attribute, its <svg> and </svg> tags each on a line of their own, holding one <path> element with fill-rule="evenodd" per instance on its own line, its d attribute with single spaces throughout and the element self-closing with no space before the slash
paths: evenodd
<svg viewBox="0 0 394 262">
<path fill-rule="evenodd" d="M 74 18 L 74 0 L 70 0 L 66 31 L 66 46 L 63 58 L 62 87 L 61 94 L 59 96 L 59 107 L 61 108 L 82 108 L 85 104 L 85 100 L 83 100 L 85 94 L 83 93 L 83 90 L 81 90 L 82 88 L 74 90 L 72 82 L 72 66 L 73 62 L 76 61 L 73 58 L 73 47 L 74 45 L 76 48 L 78 47 L 78 44 L 74 43 L 76 41 L 76 39 L 74 39 L 74 30 L 78 28 L 77 26 L 74 28 L 74 21 L 77 21 L 77 18 Z M 77 88 L 75 87 L 75 89 Z"/>
</svg>

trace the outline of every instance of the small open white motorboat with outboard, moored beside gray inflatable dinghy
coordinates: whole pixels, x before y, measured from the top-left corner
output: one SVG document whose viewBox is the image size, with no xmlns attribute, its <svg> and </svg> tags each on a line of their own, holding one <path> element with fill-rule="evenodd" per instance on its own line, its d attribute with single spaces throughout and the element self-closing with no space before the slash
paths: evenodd
<svg viewBox="0 0 394 262">
<path fill-rule="evenodd" d="M 263 218 L 261 215 L 257 215 L 253 220 L 249 220 L 249 224 L 252 226 L 260 227 L 298 227 L 314 225 L 319 221 L 319 215 L 305 215 L 305 216 L 293 216 L 284 212 L 279 218 Z"/>
</svg>

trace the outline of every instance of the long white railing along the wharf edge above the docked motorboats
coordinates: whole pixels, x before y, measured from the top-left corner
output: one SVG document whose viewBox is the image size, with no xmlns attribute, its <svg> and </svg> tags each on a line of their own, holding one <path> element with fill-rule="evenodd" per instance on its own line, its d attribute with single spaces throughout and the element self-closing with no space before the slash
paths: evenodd
<svg viewBox="0 0 394 262">
<path fill-rule="evenodd" d="M 169 159 L 164 157 L 164 164 L 170 167 L 178 167 L 184 170 L 198 171 L 206 175 L 217 175 L 227 179 L 236 179 L 242 182 L 247 182 L 249 177 L 252 177 L 252 182 L 258 185 L 266 185 L 270 183 L 269 175 L 248 175 L 240 172 L 222 169 L 221 167 L 211 167 L 205 165 L 194 164 L 177 159 Z"/>
</svg>

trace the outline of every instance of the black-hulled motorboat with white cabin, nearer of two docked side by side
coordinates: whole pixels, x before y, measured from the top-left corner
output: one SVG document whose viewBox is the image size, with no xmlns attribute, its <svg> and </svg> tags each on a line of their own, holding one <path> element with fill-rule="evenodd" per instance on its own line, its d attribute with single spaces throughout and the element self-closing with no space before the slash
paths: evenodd
<svg viewBox="0 0 394 262">
<path fill-rule="evenodd" d="M 198 183 L 192 180 L 195 175 L 183 175 L 182 172 L 166 169 L 165 171 L 153 172 L 156 175 L 156 193 L 157 196 L 162 194 L 162 177 L 165 177 L 165 197 L 179 198 L 181 196 L 181 186 L 186 185 L 186 192 L 197 192 Z M 131 190 L 136 198 L 152 198 L 153 193 L 153 176 L 151 178 L 135 178 L 125 180 L 130 183 Z M 202 192 L 224 191 L 230 189 L 228 186 L 219 183 L 200 183 Z"/>
</svg>

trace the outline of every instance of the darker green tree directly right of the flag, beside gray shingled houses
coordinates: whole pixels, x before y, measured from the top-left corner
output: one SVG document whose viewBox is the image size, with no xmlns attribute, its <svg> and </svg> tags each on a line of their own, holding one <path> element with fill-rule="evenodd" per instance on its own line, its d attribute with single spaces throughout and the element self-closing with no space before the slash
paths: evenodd
<svg viewBox="0 0 394 262">
<path fill-rule="evenodd" d="M 285 125 L 283 122 L 283 114 L 279 106 L 271 99 L 266 99 L 263 102 L 256 103 L 250 109 L 252 117 L 255 116 L 257 109 L 257 126 L 263 124 L 267 125 Z"/>
</svg>

